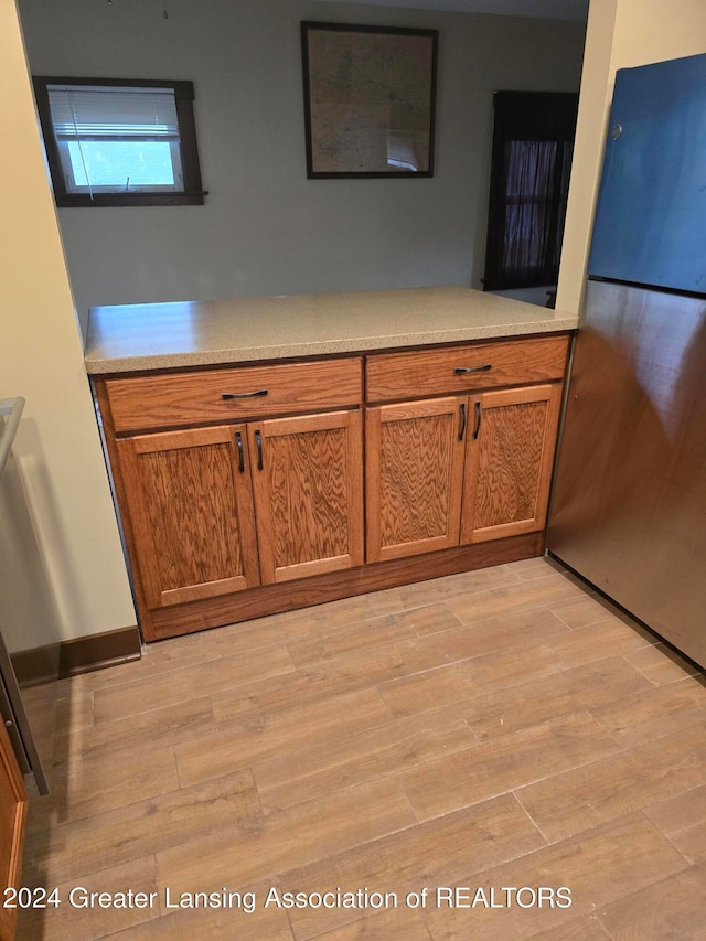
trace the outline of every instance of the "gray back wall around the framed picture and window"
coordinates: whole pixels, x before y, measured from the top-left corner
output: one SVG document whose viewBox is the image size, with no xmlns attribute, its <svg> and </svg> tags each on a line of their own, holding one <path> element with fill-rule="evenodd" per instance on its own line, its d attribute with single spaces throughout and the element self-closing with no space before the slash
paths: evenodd
<svg viewBox="0 0 706 941">
<path fill-rule="evenodd" d="M 307 0 L 19 0 L 36 74 L 188 78 L 204 206 L 68 208 L 90 306 L 480 287 L 492 93 L 578 90 L 584 24 Z M 439 30 L 431 179 L 307 180 L 299 22 Z"/>
</svg>

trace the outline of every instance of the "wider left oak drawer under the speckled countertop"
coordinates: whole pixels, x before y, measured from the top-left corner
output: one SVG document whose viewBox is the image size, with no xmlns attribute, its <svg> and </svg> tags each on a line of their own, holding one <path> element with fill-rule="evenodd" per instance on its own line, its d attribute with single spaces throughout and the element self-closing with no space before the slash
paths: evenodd
<svg viewBox="0 0 706 941">
<path fill-rule="evenodd" d="M 362 359 L 107 379 L 116 431 L 360 405 Z"/>
</svg>

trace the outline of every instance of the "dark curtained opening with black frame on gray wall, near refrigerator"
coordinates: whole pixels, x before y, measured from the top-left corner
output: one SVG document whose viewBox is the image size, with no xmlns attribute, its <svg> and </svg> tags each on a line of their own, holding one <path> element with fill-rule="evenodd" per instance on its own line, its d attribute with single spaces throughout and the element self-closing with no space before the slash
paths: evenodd
<svg viewBox="0 0 706 941">
<path fill-rule="evenodd" d="M 556 284 L 578 95 L 496 92 L 493 105 L 483 288 Z"/>
</svg>

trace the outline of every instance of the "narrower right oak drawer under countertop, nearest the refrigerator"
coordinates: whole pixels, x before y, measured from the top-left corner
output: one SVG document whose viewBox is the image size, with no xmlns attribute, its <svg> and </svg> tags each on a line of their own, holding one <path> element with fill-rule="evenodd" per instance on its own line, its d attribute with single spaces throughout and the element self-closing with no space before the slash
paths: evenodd
<svg viewBox="0 0 706 941">
<path fill-rule="evenodd" d="M 421 398 L 469 389 L 560 379 L 567 335 L 379 353 L 367 357 L 368 402 Z"/>
</svg>

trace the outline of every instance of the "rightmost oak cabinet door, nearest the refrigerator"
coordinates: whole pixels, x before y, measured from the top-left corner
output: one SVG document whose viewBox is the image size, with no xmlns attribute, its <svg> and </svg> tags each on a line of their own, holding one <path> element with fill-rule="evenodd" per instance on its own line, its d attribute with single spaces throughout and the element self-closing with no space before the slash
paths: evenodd
<svg viewBox="0 0 706 941">
<path fill-rule="evenodd" d="M 468 443 L 462 543 L 544 528 L 560 398 L 559 385 L 473 396 L 480 424 Z"/>
</svg>

